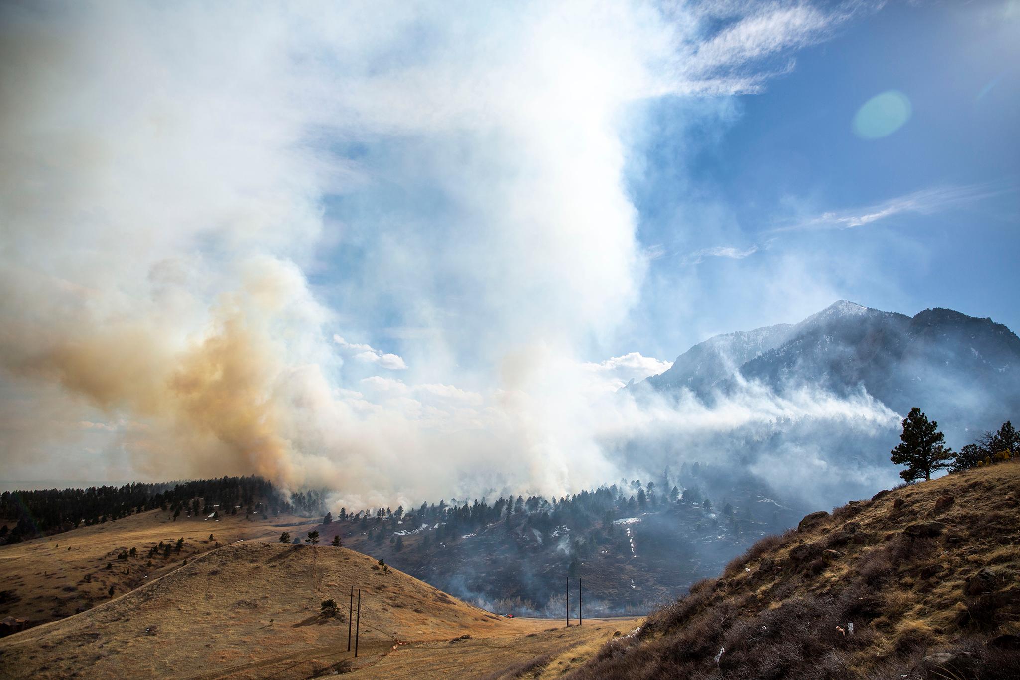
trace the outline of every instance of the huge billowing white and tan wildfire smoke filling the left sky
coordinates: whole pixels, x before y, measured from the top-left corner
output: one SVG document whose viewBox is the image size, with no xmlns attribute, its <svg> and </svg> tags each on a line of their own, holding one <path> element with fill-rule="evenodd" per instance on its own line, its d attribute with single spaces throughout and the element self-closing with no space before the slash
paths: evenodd
<svg viewBox="0 0 1020 680">
<path fill-rule="evenodd" d="M 657 416 L 606 385 L 666 365 L 591 361 L 646 268 L 631 114 L 761 88 L 851 13 L 0 11 L 5 467 L 258 473 L 349 507 L 617 478 L 605 442 Z"/>
</svg>

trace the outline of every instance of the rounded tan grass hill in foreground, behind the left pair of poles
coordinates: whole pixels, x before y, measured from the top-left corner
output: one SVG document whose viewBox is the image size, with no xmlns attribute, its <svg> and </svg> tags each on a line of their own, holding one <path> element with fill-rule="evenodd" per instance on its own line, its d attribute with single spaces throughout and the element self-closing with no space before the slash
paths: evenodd
<svg viewBox="0 0 1020 680">
<path fill-rule="evenodd" d="M 0 639 L 5 677 L 307 677 L 292 662 L 345 658 L 350 586 L 361 588 L 361 644 L 517 632 L 345 548 L 244 542 L 211 551 L 88 612 Z M 342 616 L 322 618 L 333 597 Z M 328 664 L 326 665 L 326 667 Z M 293 670 L 293 672 L 289 672 Z"/>
</svg>

